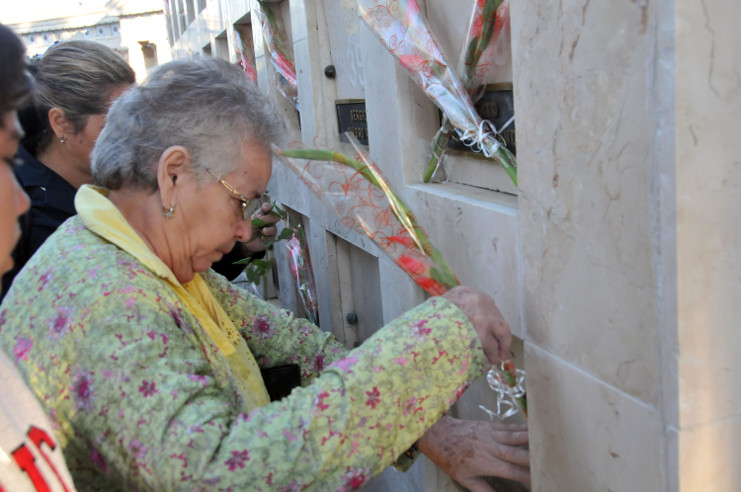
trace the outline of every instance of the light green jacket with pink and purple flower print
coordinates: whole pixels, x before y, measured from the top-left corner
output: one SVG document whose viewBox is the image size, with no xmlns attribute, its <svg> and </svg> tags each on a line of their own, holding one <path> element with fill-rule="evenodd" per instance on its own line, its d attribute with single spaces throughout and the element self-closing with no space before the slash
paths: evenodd
<svg viewBox="0 0 741 492">
<path fill-rule="evenodd" d="M 348 352 L 204 278 L 258 364 L 298 363 L 301 388 L 245 414 L 223 356 L 172 289 L 79 217 L 16 277 L 0 346 L 54 422 L 79 490 L 355 489 L 485 368 L 472 325 L 441 297 Z"/>
</svg>

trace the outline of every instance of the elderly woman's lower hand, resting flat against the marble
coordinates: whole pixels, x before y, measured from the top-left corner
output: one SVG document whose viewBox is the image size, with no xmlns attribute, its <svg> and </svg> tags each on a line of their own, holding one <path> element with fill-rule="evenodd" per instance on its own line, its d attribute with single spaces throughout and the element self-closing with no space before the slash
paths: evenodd
<svg viewBox="0 0 741 492">
<path fill-rule="evenodd" d="M 444 416 L 417 442 L 419 450 L 471 492 L 494 492 L 483 477 L 530 486 L 527 426 Z"/>
</svg>

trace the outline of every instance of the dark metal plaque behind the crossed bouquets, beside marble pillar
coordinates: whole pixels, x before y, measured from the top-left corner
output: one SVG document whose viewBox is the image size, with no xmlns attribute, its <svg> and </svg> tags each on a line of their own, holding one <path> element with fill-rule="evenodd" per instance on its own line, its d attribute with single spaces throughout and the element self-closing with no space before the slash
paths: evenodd
<svg viewBox="0 0 741 492">
<path fill-rule="evenodd" d="M 475 104 L 476 111 L 485 120 L 489 120 L 500 133 L 504 140 L 504 145 L 513 154 L 517 154 L 515 145 L 515 122 L 502 127 L 515 114 L 514 97 L 512 94 L 512 84 L 491 84 L 486 87 L 486 92 Z M 462 152 L 473 152 L 469 147 L 461 143 L 454 135 L 448 142 L 449 150 Z"/>
</svg>

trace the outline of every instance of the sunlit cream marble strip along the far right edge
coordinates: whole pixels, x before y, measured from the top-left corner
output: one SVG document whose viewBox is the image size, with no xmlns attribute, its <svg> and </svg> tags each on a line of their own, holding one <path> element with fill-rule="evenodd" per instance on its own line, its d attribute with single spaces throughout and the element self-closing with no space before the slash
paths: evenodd
<svg viewBox="0 0 741 492">
<path fill-rule="evenodd" d="M 741 6 L 676 2 L 679 486 L 741 481 Z"/>
</svg>

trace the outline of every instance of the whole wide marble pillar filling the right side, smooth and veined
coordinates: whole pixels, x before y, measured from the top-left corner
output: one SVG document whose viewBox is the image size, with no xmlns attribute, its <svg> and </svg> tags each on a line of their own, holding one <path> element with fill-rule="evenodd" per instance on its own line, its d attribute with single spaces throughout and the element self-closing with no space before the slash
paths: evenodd
<svg viewBox="0 0 741 492">
<path fill-rule="evenodd" d="M 534 488 L 734 490 L 739 7 L 512 10 Z"/>
</svg>

